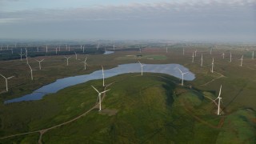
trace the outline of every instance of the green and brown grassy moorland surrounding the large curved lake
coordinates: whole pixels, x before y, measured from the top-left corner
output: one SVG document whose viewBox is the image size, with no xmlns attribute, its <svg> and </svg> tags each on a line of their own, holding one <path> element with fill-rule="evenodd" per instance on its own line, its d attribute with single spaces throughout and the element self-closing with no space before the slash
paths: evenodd
<svg viewBox="0 0 256 144">
<path fill-rule="evenodd" d="M 182 48 L 185 54 L 182 55 Z M 250 49 L 255 47 L 250 47 Z M 192 61 L 192 52 L 197 57 Z M 232 52 L 232 62 L 229 54 Z M 222 52 L 226 58 L 222 59 Z M 170 46 L 165 48 L 146 47 L 138 50 L 117 51 L 114 54 L 72 55 L 70 65 L 59 56 L 42 56 L 42 70 L 38 62 L 29 58 L 34 71 L 30 80 L 26 59 L 1 61 L 0 74 L 10 77 L 9 92 L 5 91 L 5 81 L 0 78 L 2 91 L 0 104 L 0 142 L 31 143 L 38 142 L 39 132 L 17 137 L 4 138 L 12 134 L 43 130 L 67 122 L 95 106 L 97 94 L 90 85 L 100 90 L 100 80 L 90 81 L 49 94 L 42 100 L 17 102 L 7 105 L 3 101 L 29 94 L 58 78 L 78 74 L 90 74 L 94 70 L 105 69 L 123 63 L 134 63 L 136 58 L 127 55 L 142 54 L 143 63 L 178 63 L 186 66 L 195 75 L 194 81 L 185 82 L 164 74 L 122 74 L 107 78 L 106 83 L 114 82 L 102 103 L 102 112 L 91 110 L 82 118 L 65 126 L 57 127 L 42 135 L 45 143 L 107 142 L 107 143 L 167 143 L 167 142 L 231 142 L 255 143 L 256 126 L 256 66 L 250 57 L 250 50 L 236 49 L 232 46 L 214 47 L 210 54 L 209 46 Z M 200 58 L 203 54 L 203 66 Z M 240 65 L 244 54 L 243 66 Z M 87 57 L 87 70 L 83 63 Z M 153 59 L 151 59 L 153 58 Z M 210 73 L 214 58 L 214 73 Z M 222 85 L 222 116 L 217 116 L 216 106 L 209 98 L 216 98 Z"/>
</svg>

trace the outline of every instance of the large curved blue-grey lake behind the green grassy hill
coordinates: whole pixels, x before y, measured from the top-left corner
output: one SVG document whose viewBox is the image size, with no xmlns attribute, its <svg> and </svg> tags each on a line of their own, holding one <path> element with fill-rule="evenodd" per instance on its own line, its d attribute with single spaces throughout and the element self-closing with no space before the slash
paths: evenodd
<svg viewBox="0 0 256 144">
<path fill-rule="evenodd" d="M 148 73 L 161 73 L 161 74 L 169 74 L 176 78 L 182 78 L 182 74 L 176 68 L 178 67 L 182 72 L 189 72 L 184 75 L 184 80 L 192 81 L 195 76 L 190 72 L 186 67 L 179 64 L 142 64 L 143 72 Z M 114 67 L 110 70 L 104 70 L 105 78 L 110 78 L 118 74 L 127 74 L 127 73 L 140 73 L 141 66 L 139 63 L 130 63 L 130 64 L 122 64 L 118 65 L 118 67 Z M 88 82 L 94 79 L 102 78 L 102 70 L 94 71 L 91 74 L 78 75 L 74 77 L 67 77 L 58 79 L 56 82 L 50 83 L 46 86 L 42 86 L 38 90 L 34 90 L 31 94 L 26 94 L 20 98 L 14 98 L 5 101 L 4 103 L 11 102 L 22 102 L 22 101 L 34 101 L 42 99 L 42 97 L 46 94 L 53 94 L 58 92 L 58 90 L 62 90 L 68 86 L 74 86 L 79 83 Z"/>
</svg>

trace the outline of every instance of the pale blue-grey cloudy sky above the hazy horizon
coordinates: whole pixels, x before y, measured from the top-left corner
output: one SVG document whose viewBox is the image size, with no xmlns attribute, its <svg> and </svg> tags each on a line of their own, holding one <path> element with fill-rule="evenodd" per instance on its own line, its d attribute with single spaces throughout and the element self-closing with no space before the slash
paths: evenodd
<svg viewBox="0 0 256 144">
<path fill-rule="evenodd" d="M 0 38 L 256 42 L 256 0 L 0 0 Z"/>
</svg>

